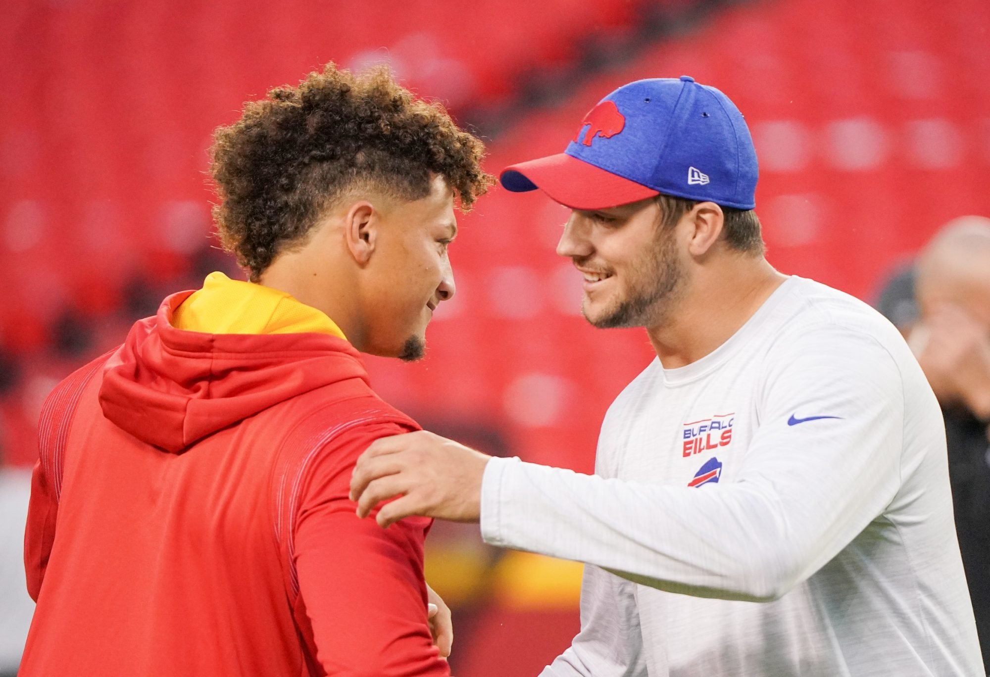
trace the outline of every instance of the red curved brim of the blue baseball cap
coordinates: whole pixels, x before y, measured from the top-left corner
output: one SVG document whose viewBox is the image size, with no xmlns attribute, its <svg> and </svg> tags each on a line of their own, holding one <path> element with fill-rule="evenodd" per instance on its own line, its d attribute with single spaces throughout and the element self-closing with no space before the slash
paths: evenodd
<svg viewBox="0 0 990 677">
<path fill-rule="evenodd" d="M 499 180 L 514 193 L 539 188 L 571 209 L 606 209 L 659 195 L 652 188 L 564 152 L 508 166 Z"/>
</svg>

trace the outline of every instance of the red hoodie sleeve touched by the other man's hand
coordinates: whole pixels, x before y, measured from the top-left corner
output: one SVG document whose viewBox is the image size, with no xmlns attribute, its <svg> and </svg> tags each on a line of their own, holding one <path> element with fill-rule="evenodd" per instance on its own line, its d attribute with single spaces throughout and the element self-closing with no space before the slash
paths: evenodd
<svg viewBox="0 0 990 677">
<path fill-rule="evenodd" d="M 307 469 L 296 511 L 294 564 L 317 660 L 342 677 L 449 675 L 427 625 L 423 541 L 431 521 L 387 530 L 358 520 L 347 498 L 357 457 L 397 424 L 351 429 Z"/>
</svg>

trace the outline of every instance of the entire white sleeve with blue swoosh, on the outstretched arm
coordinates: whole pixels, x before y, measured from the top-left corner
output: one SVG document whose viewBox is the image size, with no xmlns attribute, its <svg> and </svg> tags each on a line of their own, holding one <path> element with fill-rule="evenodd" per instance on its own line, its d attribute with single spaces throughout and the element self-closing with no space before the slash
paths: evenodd
<svg viewBox="0 0 990 677">
<path fill-rule="evenodd" d="M 835 325 L 778 348 L 763 373 L 759 427 L 735 481 L 655 485 L 494 458 L 482 536 L 660 590 L 777 599 L 893 500 L 904 397 L 886 348 Z"/>
</svg>

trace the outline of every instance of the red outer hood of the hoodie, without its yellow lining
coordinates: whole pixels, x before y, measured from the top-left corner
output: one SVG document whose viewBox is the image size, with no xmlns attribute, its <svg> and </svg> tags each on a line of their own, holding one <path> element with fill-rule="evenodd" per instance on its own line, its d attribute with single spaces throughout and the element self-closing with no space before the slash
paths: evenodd
<svg viewBox="0 0 990 677">
<path fill-rule="evenodd" d="M 173 315 L 193 293 L 166 298 L 104 367 L 104 416 L 142 441 L 178 453 L 297 395 L 347 379 L 367 382 L 358 352 L 338 336 L 176 329 Z"/>
</svg>

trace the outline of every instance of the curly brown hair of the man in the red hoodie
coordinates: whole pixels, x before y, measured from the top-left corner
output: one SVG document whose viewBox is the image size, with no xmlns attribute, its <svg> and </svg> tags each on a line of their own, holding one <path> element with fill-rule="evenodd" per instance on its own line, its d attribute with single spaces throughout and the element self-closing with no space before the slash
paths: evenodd
<svg viewBox="0 0 990 677">
<path fill-rule="evenodd" d="M 439 103 L 417 99 L 385 67 L 363 75 L 327 64 L 298 87 L 277 87 L 214 134 L 213 208 L 224 248 L 257 281 L 280 252 L 358 185 L 404 200 L 446 179 L 463 211 L 494 182 L 484 145 Z"/>
</svg>

